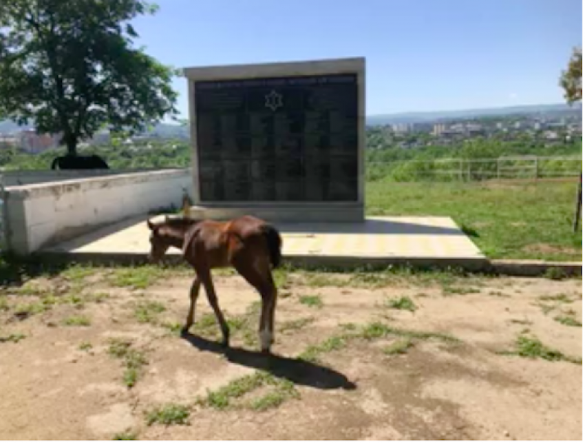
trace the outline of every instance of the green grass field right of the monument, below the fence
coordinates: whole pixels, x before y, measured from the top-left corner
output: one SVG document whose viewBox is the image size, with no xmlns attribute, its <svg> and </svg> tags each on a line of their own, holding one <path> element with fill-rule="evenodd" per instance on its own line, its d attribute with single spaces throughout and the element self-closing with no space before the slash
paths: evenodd
<svg viewBox="0 0 585 443">
<path fill-rule="evenodd" d="M 577 180 L 366 183 L 368 215 L 450 216 L 489 258 L 582 259 L 573 234 Z"/>
</svg>

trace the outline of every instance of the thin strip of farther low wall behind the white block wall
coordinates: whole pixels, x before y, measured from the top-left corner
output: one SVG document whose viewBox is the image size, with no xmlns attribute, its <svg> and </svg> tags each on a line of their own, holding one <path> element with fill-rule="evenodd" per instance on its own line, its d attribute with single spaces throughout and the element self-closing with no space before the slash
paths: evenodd
<svg viewBox="0 0 585 443">
<path fill-rule="evenodd" d="M 137 172 L 176 170 L 176 168 L 142 168 L 142 169 L 21 169 L 0 171 L 4 187 L 50 183 L 75 178 L 109 177 Z"/>
</svg>

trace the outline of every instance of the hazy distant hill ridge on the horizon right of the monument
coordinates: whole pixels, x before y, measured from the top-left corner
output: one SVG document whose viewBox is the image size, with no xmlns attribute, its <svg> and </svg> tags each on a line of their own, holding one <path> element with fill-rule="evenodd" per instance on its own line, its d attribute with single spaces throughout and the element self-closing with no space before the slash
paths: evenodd
<svg viewBox="0 0 585 443">
<path fill-rule="evenodd" d="M 434 112 L 403 112 L 398 114 L 376 114 L 366 117 L 368 125 L 389 125 L 392 123 L 425 123 L 440 119 L 469 119 L 481 116 L 504 116 L 520 114 L 542 114 L 574 111 L 581 112 L 581 103 L 573 107 L 564 103 L 556 105 L 530 105 L 491 107 L 475 110 L 434 111 Z"/>
</svg>

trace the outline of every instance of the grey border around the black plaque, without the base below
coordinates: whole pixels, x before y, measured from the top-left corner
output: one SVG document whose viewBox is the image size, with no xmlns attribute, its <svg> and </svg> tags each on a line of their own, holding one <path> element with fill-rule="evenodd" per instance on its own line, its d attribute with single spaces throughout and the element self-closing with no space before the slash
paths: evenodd
<svg viewBox="0 0 585 443">
<path fill-rule="evenodd" d="M 242 65 L 216 65 L 204 67 L 184 68 L 183 75 L 187 78 L 189 94 L 189 124 L 191 134 L 191 164 L 193 166 L 193 199 L 195 205 L 215 207 L 296 207 L 299 205 L 317 206 L 347 206 L 356 205 L 365 207 L 364 185 L 364 152 L 365 152 L 365 57 L 345 59 L 321 59 L 312 61 L 290 61 L 277 63 L 254 63 Z M 199 189 L 199 161 L 197 145 L 197 115 L 195 113 L 196 81 L 215 81 L 231 79 L 257 79 L 262 77 L 295 76 L 295 75 L 327 75 L 327 74 L 357 74 L 358 83 L 358 198 L 357 200 L 325 201 L 325 202 L 279 202 L 279 201 L 201 201 Z"/>
</svg>

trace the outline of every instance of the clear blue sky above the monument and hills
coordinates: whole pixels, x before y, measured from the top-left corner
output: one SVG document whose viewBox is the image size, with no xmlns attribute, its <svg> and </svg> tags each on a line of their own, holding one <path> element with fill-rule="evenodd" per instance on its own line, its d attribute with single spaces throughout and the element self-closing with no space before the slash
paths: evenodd
<svg viewBox="0 0 585 443">
<path fill-rule="evenodd" d="M 368 114 L 561 103 L 581 0 L 156 0 L 136 19 L 178 68 L 366 58 Z M 179 110 L 187 83 L 176 79 Z"/>
</svg>

